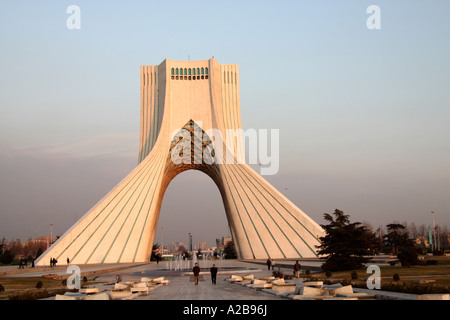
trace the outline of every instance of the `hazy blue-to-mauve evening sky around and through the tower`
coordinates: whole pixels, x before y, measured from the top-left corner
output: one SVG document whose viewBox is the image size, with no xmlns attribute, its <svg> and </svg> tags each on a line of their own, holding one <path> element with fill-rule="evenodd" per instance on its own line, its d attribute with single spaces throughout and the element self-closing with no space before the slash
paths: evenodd
<svg viewBox="0 0 450 320">
<path fill-rule="evenodd" d="M 69 29 L 70 5 L 80 8 Z M 370 5 L 380 29 L 369 29 Z M 0 1 L 0 237 L 62 235 L 137 165 L 141 65 L 239 64 L 264 176 L 319 224 L 450 225 L 450 24 L 432 1 Z M 201 205 L 199 205 L 201 204 Z M 169 185 L 155 242 L 228 236 L 214 182 Z"/>
</svg>

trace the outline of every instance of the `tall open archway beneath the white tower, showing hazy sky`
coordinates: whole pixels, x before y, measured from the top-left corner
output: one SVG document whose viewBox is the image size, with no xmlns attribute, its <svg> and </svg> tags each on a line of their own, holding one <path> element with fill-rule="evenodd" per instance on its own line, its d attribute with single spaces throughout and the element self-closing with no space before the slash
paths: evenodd
<svg viewBox="0 0 450 320">
<path fill-rule="evenodd" d="M 211 248 L 216 239 L 231 237 L 219 188 L 199 170 L 184 171 L 169 183 L 153 243 L 170 249 L 182 242 L 189 250 L 189 233 L 194 251 L 199 243 Z"/>
</svg>

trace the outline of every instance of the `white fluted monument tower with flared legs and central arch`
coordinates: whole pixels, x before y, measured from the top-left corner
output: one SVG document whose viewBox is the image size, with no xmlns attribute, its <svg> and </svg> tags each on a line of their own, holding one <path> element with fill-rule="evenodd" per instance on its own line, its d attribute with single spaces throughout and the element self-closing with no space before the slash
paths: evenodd
<svg viewBox="0 0 450 320">
<path fill-rule="evenodd" d="M 73 264 L 149 261 L 164 193 L 203 171 L 241 259 L 316 257 L 323 229 L 245 163 L 239 69 L 214 58 L 141 66 L 139 164 L 45 251 Z"/>
</svg>

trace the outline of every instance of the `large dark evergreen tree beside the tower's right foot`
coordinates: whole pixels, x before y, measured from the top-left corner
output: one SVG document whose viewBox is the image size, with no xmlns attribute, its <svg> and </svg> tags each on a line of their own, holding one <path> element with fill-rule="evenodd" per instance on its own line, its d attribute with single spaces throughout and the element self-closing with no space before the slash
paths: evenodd
<svg viewBox="0 0 450 320">
<path fill-rule="evenodd" d="M 324 255 L 327 261 L 323 270 L 341 271 L 359 269 L 369 259 L 364 256 L 371 253 L 376 244 L 375 235 L 360 222 L 350 223 L 348 215 L 336 209 L 333 213 L 325 213 L 328 225 L 322 225 L 326 235 L 320 238 L 317 246 L 319 255 Z"/>
</svg>

